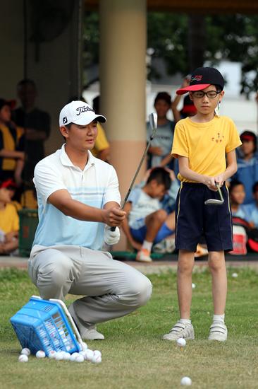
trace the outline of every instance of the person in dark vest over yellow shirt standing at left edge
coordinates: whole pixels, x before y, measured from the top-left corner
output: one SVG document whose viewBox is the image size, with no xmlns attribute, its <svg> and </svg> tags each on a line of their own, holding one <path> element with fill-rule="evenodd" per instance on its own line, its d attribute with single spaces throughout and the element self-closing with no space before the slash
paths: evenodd
<svg viewBox="0 0 258 389">
<path fill-rule="evenodd" d="M 0 180 L 13 178 L 22 184 L 24 165 L 23 129 L 11 121 L 11 108 L 15 102 L 0 98 Z"/>
</svg>

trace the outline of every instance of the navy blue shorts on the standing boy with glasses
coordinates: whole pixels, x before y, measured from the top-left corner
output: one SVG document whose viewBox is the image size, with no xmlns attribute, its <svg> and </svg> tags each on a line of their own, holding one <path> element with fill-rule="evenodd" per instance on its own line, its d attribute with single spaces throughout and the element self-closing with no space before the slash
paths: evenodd
<svg viewBox="0 0 258 389">
<path fill-rule="evenodd" d="M 221 187 L 222 205 L 205 205 L 219 199 L 206 185 L 181 182 L 176 199 L 176 249 L 196 251 L 204 236 L 208 251 L 233 250 L 231 207 L 226 185 Z"/>
</svg>

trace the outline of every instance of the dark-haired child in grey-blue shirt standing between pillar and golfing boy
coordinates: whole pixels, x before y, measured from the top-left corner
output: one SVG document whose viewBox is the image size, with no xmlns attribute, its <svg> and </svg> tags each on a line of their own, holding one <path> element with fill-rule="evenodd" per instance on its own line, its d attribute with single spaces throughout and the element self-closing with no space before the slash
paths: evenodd
<svg viewBox="0 0 258 389">
<path fill-rule="evenodd" d="M 158 127 L 152 144 L 149 147 L 149 168 L 167 166 L 172 168 L 171 147 L 175 123 L 168 120 L 167 114 L 171 109 L 171 95 L 167 92 L 159 92 L 154 100 L 154 108 L 158 115 Z M 152 136 L 152 127 L 147 122 L 147 141 Z"/>
</svg>

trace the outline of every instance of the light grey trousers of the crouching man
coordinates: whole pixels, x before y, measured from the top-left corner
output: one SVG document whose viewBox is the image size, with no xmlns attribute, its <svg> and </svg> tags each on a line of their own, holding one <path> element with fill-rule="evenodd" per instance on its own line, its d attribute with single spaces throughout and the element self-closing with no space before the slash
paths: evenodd
<svg viewBox="0 0 258 389">
<path fill-rule="evenodd" d="M 109 252 L 79 246 L 42 248 L 30 257 L 28 272 L 44 299 L 85 296 L 73 303 L 85 327 L 127 315 L 144 306 L 152 284 Z"/>
</svg>

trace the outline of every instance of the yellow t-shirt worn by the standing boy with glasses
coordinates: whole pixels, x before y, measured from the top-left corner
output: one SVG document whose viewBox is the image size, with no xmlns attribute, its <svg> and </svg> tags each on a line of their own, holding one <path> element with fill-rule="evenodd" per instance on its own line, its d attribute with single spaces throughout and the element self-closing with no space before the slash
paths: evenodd
<svg viewBox="0 0 258 389">
<path fill-rule="evenodd" d="M 189 159 L 189 168 L 202 175 L 219 175 L 226 170 L 226 153 L 240 146 L 241 141 L 233 120 L 214 116 L 207 123 L 192 122 L 190 117 L 176 124 L 172 156 Z M 178 173 L 178 180 L 193 182 Z"/>
</svg>

